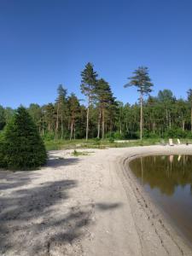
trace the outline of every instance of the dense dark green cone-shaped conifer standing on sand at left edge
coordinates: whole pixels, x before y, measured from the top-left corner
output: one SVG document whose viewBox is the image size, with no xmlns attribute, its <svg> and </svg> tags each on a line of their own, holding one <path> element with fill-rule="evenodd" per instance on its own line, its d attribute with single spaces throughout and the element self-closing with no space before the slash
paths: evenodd
<svg viewBox="0 0 192 256">
<path fill-rule="evenodd" d="M 0 166 L 10 170 L 29 170 L 43 166 L 47 154 L 38 129 L 26 108 L 17 109 L 0 143 Z"/>
</svg>

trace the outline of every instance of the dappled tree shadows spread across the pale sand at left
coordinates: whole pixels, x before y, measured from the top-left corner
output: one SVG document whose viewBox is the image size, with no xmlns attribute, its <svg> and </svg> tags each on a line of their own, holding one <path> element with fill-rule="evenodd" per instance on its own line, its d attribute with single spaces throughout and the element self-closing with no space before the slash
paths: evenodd
<svg viewBox="0 0 192 256">
<path fill-rule="evenodd" d="M 74 165 L 78 159 L 50 160 L 49 166 Z M 95 211 L 120 207 L 119 203 L 80 205 L 69 190 L 78 181 L 63 179 L 31 185 L 39 172 L 0 172 L 0 255 L 80 255 L 79 239 L 89 236 Z M 26 187 L 28 185 L 28 187 Z"/>
</svg>

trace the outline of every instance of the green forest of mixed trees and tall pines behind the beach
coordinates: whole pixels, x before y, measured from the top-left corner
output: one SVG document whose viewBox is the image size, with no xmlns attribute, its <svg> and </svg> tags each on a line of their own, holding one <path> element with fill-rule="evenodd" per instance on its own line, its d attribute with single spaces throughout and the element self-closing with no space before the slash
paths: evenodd
<svg viewBox="0 0 192 256">
<path fill-rule="evenodd" d="M 68 95 L 67 88 L 59 84 L 55 102 L 44 106 L 32 103 L 27 110 L 45 139 L 192 137 L 191 89 L 187 100 L 177 99 L 168 89 L 150 96 L 154 84 L 148 67 L 138 67 L 128 80 L 125 88 L 136 86 L 139 93 L 134 104 L 119 102 L 110 84 L 99 78 L 89 62 L 79 84 L 86 102 L 74 93 Z M 0 106 L 0 130 L 13 113 L 14 109 Z"/>
</svg>

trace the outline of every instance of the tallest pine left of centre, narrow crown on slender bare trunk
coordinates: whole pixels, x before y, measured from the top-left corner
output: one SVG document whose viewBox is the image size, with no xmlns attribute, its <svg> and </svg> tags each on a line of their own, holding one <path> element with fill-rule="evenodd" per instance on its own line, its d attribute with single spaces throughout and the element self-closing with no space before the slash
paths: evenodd
<svg viewBox="0 0 192 256">
<path fill-rule="evenodd" d="M 87 96 L 87 114 L 86 114 L 86 140 L 88 140 L 89 133 L 89 116 L 90 116 L 90 103 L 93 100 L 97 73 L 93 69 L 93 65 L 89 62 L 81 73 L 81 92 Z"/>
</svg>

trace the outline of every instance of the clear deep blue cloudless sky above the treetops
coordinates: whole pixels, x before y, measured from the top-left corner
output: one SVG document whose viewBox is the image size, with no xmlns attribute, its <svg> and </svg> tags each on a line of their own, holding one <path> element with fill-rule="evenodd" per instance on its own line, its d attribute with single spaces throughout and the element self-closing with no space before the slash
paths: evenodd
<svg viewBox="0 0 192 256">
<path fill-rule="evenodd" d="M 158 90 L 186 97 L 192 88 L 191 0 L 1 0 L 0 104 L 54 102 L 58 84 L 79 98 L 90 61 L 122 102 L 138 66 Z"/>
</svg>

